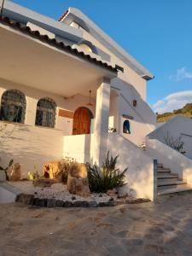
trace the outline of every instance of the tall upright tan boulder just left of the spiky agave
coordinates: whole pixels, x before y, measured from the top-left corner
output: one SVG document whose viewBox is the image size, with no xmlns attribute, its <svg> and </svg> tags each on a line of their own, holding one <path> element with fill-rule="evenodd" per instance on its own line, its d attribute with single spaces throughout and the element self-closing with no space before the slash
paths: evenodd
<svg viewBox="0 0 192 256">
<path fill-rule="evenodd" d="M 90 196 L 86 165 L 73 163 L 70 166 L 67 177 L 67 190 L 74 195 Z"/>
</svg>

